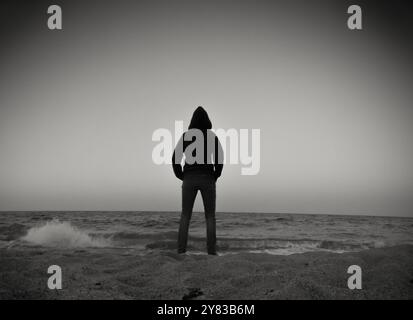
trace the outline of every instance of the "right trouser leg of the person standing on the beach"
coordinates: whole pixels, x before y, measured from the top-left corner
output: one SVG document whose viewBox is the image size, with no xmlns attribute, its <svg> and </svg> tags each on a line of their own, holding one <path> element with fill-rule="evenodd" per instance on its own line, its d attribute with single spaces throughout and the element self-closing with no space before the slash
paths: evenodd
<svg viewBox="0 0 413 320">
<path fill-rule="evenodd" d="M 201 185 L 201 195 L 204 202 L 205 219 L 207 227 L 207 251 L 208 254 L 216 254 L 216 221 L 215 203 L 216 188 L 213 177 Z"/>
</svg>

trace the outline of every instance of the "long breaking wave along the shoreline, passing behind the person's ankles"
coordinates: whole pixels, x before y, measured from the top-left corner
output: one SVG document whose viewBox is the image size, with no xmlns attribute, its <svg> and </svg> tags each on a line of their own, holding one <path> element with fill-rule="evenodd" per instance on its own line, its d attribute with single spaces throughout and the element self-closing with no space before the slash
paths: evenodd
<svg viewBox="0 0 413 320">
<path fill-rule="evenodd" d="M 22 228 L 19 232 L 22 232 Z M 26 229 L 27 230 L 27 229 Z M 20 237 L 30 244 L 46 247 L 85 248 L 85 247 L 123 247 L 146 248 L 149 250 L 176 250 L 176 231 L 141 233 L 114 232 L 97 234 L 73 226 L 70 222 L 53 219 L 32 227 Z M 188 250 L 205 251 L 206 239 L 190 236 Z M 385 246 L 383 241 L 353 242 L 317 239 L 280 239 L 280 238 L 222 238 L 218 237 L 220 252 L 267 252 L 273 254 L 292 254 L 309 251 L 332 251 L 337 253 L 359 251 Z"/>
</svg>

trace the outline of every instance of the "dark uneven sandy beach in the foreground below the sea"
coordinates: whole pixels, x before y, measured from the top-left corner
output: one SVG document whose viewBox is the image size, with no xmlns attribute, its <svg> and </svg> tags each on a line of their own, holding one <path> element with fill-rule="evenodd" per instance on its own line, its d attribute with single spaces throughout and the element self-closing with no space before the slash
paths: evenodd
<svg viewBox="0 0 413 320">
<path fill-rule="evenodd" d="M 61 290 L 47 268 L 62 268 Z M 362 268 L 349 290 L 347 268 Z M 412 299 L 413 246 L 290 256 L 145 256 L 126 249 L 0 249 L 1 299 Z"/>
</svg>

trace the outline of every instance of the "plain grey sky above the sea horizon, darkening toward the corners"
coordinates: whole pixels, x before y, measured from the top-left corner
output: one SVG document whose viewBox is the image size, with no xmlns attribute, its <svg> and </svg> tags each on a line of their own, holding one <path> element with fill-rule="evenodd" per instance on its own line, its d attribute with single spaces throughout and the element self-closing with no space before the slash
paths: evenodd
<svg viewBox="0 0 413 320">
<path fill-rule="evenodd" d="M 57 1 L 62 31 L 2 4 L 0 210 L 180 210 L 151 136 L 202 105 L 261 130 L 218 211 L 413 216 L 407 13 L 361 1 L 350 31 L 352 3 L 309 2 Z"/>
</svg>

